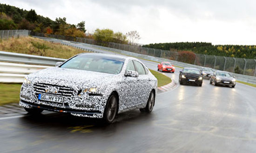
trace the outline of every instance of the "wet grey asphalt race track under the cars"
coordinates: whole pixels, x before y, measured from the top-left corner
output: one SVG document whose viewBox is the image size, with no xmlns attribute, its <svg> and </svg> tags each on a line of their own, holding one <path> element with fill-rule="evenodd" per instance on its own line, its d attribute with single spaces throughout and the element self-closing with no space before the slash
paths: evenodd
<svg viewBox="0 0 256 153">
<path fill-rule="evenodd" d="M 150 69 L 157 63 L 142 60 Z M 178 81 L 178 71 L 165 73 Z M 256 89 L 178 85 L 156 96 L 147 115 L 139 110 L 100 120 L 45 112 L 0 118 L 0 152 L 256 152 Z"/>
</svg>

